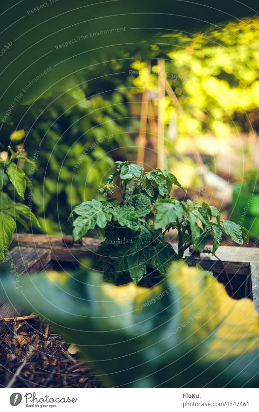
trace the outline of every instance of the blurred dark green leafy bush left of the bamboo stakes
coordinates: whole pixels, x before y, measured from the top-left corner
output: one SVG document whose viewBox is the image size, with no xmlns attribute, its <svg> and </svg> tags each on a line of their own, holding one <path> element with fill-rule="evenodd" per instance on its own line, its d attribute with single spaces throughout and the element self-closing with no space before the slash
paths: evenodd
<svg viewBox="0 0 259 412">
<path fill-rule="evenodd" d="M 71 208 L 98 196 L 102 180 L 114 166 L 113 151 L 132 145 L 126 132 L 127 107 L 116 85 L 108 78 L 91 86 L 94 95 L 84 79 L 80 85 L 71 82 L 49 99 L 38 100 L 24 114 L 25 138 L 21 131 L 10 134 L 13 124 L 1 129 L 5 145 L 10 135 L 11 145 L 22 142 L 27 156 L 35 161 L 30 175 L 33 208 L 43 232 L 69 231 Z M 102 94 L 105 87 L 111 92 Z M 30 172 L 30 166 L 24 169 Z"/>
</svg>

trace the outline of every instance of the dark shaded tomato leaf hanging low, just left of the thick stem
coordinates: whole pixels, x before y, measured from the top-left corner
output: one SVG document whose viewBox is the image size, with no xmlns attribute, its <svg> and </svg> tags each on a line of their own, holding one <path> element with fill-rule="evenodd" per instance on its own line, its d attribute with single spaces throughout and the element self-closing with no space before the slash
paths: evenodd
<svg viewBox="0 0 259 412">
<path fill-rule="evenodd" d="M 172 260 L 177 260 L 177 253 L 169 243 L 159 243 L 154 248 L 154 254 L 151 258 L 152 267 L 157 270 L 162 276 L 166 276 L 166 272 L 172 263 Z"/>
</svg>

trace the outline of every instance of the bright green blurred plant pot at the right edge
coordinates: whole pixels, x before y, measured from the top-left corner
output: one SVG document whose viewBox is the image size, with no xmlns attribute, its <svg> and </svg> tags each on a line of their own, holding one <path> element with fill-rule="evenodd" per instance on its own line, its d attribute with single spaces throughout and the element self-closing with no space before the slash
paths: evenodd
<svg viewBox="0 0 259 412">
<path fill-rule="evenodd" d="M 230 219 L 244 226 L 254 239 L 259 237 L 259 193 L 242 189 L 242 184 L 233 184 Z"/>
</svg>

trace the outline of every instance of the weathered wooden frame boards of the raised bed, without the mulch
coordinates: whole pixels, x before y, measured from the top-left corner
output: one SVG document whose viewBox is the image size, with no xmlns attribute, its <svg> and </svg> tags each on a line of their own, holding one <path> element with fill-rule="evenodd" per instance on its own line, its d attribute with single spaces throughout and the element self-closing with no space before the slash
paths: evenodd
<svg viewBox="0 0 259 412">
<path fill-rule="evenodd" d="M 19 277 L 26 273 L 43 272 L 56 267 L 59 262 L 76 265 L 84 257 L 93 257 L 100 243 L 99 239 L 83 238 L 81 243 L 65 244 L 60 236 L 15 234 L 8 260 L 14 275 Z M 259 248 L 221 246 L 217 257 L 220 260 L 210 253 L 201 253 L 195 256 L 194 264 L 200 264 L 215 276 L 222 276 L 224 270 L 231 279 L 241 276 L 245 288 L 252 290 L 246 296 L 253 298 L 259 311 Z M 0 263 L 1 272 L 6 270 L 6 265 Z M 0 302 L 0 319 L 21 314 L 6 301 Z"/>
</svg>

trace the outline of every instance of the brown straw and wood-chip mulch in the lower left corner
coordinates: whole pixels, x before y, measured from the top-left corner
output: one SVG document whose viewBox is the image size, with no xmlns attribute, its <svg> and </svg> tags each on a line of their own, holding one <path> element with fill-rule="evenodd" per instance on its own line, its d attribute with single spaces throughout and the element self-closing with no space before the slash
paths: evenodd
<svg viewBox="0 0 259 412">
<path fill-rule="evenodd" d="M 76 348 L 37 317 L 0 323 L 0 387 L 103 386 L 87 362 L 80 359 Z"/>
</svg>

